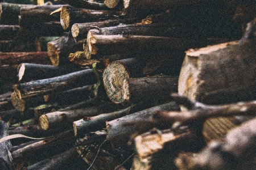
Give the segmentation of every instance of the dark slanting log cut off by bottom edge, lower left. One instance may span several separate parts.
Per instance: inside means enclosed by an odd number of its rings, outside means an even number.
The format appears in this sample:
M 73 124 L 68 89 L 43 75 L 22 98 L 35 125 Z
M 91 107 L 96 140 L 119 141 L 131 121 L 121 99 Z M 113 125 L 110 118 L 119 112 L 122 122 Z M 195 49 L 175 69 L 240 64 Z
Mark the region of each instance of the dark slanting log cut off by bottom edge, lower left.
M 61 154 L 52 156 L 51 158 L 44 159 L 38 163 L 32 164 L 26 170 L 39 170 L 39 169 L 65 169 L 68 164 L 72 164 L 76 159 L 79 159 L 76 147 L 69 148 Z

